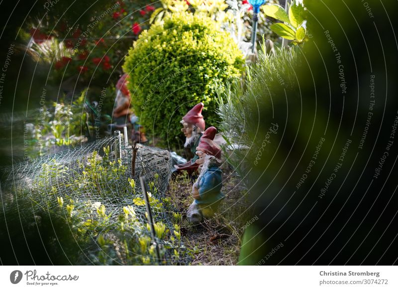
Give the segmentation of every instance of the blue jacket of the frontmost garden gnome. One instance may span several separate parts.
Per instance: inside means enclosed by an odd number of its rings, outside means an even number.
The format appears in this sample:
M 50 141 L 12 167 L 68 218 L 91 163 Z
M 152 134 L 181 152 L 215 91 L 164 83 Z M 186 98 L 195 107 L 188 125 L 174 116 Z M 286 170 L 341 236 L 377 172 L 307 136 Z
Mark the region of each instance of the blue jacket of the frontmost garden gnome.
M 197 204 L 212 204 L 224 198 L 221 193 L 221 169 L 217 166 L 210 166 L 198 181 L 200 198 L 195 200 Z

